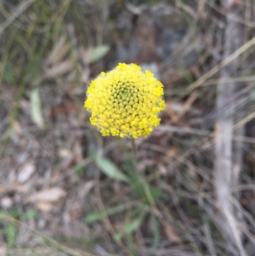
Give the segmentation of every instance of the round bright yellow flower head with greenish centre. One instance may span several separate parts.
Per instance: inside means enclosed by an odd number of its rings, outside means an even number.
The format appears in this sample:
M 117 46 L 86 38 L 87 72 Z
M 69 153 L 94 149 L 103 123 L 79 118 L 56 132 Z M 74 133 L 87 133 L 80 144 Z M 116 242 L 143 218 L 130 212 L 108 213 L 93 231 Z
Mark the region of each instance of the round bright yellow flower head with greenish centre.
M 147 137 L 159 125 L 164 110 L 163 84 L 136 64 L 119 63 L 102 72 L 87 89 L 84 107 L 92 112 L 91 124 L 103 136 Z

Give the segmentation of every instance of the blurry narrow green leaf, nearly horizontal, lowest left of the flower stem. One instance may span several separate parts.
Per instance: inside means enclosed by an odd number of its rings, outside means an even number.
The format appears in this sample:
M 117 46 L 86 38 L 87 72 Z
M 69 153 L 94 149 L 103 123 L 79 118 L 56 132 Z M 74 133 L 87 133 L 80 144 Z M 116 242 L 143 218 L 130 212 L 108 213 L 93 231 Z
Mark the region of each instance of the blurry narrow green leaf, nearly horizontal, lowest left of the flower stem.
M 106 209 L 105 211 L 99 211 L 97 213 L 90 213 L 85 218 L 86 223 L 98 222 L 99 220 L 103 220 L 106 216 L 115 215 L 116 213 L 120 213 L 124 211 L 128 207 L 127 204 L 120 204 L 119 206 L 111 207 Z

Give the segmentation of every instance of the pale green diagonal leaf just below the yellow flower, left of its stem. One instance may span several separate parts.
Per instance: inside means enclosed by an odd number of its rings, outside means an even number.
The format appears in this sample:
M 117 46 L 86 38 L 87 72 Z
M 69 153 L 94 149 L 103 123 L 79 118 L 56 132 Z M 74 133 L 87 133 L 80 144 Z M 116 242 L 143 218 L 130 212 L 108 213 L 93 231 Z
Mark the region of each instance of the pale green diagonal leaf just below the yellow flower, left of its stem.
M 129 183 L 129 178 L 113 162 L 103 156 L 99 156 L 99 154 L 92 154 L 92 158 L 106 176 L 115 179 L 115 181 Z

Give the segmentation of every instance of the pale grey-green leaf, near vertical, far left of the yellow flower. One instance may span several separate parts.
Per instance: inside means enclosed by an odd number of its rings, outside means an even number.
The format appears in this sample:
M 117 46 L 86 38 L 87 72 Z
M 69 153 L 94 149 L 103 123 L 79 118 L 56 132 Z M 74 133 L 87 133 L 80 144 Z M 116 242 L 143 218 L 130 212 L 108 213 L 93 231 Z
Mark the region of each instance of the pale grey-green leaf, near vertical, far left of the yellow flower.
M 31 118 L 39 127 L 44 128 L 43 112 L 41 110 L 41 99 L 39 88 L 36 87 L 30 94 Z

